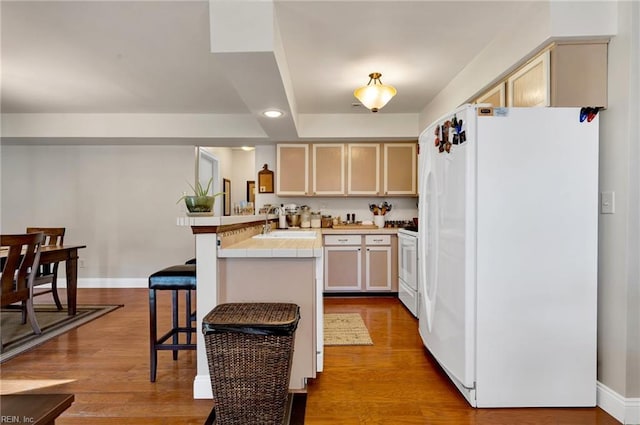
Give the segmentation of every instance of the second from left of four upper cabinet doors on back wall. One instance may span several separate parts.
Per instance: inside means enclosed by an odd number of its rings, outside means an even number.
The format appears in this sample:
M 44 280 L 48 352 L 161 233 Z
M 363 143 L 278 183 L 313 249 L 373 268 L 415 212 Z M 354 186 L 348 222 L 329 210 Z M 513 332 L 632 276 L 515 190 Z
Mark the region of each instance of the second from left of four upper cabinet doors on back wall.
M 344 195 L 344 145 L 312 145 L 313 195 Z

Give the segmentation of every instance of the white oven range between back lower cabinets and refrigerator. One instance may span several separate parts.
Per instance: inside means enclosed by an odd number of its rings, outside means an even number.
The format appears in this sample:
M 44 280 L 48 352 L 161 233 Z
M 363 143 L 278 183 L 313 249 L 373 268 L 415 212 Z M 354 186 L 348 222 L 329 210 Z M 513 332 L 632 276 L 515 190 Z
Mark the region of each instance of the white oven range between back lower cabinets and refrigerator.
M 418 317 L 418 232 L 398 230 L 398 298 Z

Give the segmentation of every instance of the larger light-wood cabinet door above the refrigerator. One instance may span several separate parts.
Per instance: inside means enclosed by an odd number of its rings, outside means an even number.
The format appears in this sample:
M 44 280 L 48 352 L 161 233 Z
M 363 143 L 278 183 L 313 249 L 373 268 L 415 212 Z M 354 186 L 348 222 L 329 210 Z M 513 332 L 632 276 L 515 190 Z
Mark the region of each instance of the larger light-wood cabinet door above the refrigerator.
M 549 106 L 551 84 L 549 81 L 549 51 L 516 71 L 507 80 L 508 106 Z

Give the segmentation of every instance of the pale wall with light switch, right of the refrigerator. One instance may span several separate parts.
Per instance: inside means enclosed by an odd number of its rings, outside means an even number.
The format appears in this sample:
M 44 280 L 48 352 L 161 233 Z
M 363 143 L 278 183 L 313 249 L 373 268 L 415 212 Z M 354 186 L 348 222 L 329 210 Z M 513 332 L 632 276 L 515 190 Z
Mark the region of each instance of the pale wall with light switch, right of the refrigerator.
M 615 192 L 616 212 L 599 221 L 598 379 L 638 398 L 640 4 L 618 6 L 618 35 L 609 43 L 609 108 L 601 113 L 600 191 Z

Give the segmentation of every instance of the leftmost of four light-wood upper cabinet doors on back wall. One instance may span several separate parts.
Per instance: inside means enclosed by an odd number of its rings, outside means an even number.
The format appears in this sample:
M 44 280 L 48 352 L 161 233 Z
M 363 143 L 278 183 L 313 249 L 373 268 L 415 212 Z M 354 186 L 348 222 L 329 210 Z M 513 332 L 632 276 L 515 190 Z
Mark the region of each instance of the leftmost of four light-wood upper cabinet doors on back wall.
M 283 196 L 307 195 L 309 190 L 309 145 L 278 145 L 276 162 L 276 193 Z

